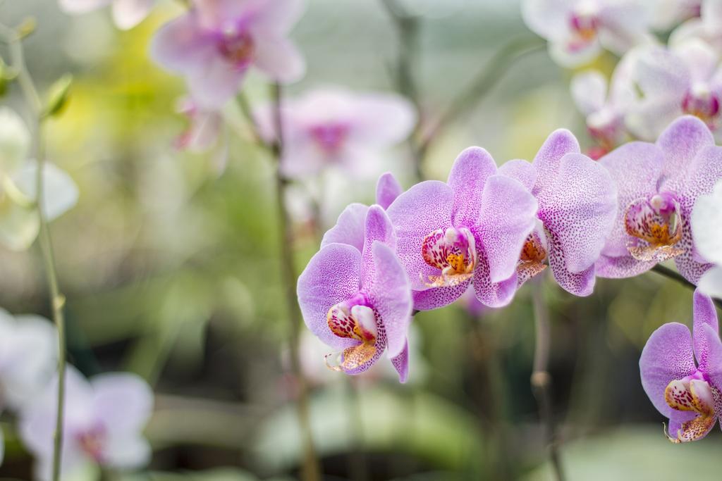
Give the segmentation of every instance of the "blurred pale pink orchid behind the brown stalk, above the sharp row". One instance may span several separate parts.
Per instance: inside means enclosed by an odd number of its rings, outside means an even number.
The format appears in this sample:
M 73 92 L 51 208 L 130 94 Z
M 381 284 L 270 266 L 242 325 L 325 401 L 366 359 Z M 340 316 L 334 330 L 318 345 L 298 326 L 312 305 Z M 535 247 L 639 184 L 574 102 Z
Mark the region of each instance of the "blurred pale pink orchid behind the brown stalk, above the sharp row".
M 274 141 L 274 109 L 256 109 L 261 136 Z M 353 173 L 373 172 L 384 150 L 399 144 L 416 124 L 411 103 L 396 94 L 317 89 L 282 105 L 284 175 L 300 177 L 336 165 Z

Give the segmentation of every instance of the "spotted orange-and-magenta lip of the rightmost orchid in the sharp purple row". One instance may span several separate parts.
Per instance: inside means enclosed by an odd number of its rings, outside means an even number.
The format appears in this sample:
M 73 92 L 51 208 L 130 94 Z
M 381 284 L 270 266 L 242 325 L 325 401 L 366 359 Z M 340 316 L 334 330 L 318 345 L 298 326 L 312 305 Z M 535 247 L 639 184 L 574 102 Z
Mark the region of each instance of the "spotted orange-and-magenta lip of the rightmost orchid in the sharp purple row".
M 662 262 L 682 254 L 682 213 L 674 194 L 661 193 L 640 198 L 627 206 L 625 231 L 630 235 L 627 249 L 636 260 Z

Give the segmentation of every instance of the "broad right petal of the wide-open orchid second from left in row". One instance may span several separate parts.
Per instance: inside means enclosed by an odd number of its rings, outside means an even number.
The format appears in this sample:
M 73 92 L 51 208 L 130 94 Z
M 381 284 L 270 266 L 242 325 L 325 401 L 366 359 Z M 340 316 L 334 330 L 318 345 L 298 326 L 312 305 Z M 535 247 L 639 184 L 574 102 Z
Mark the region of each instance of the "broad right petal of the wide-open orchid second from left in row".
M 516 271 L 521 247 L 534 230 L 536 199 L 518 180 L 492 175 L 484 186 L 481 204 L 479 238 L 490 281 L 505 281 Z

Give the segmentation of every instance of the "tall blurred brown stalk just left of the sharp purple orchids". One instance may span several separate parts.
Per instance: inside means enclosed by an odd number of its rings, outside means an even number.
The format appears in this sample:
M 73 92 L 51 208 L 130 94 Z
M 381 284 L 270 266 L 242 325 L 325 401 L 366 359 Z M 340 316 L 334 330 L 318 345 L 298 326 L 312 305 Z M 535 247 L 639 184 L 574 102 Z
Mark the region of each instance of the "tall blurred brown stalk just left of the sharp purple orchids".
M 281 172 L 281 158 L 283 155 L 283 120 L 281 115 L 282 89 L 279 84 L 273 86 L 274 98 L 274 123 L 276 125 L 276 141 L 271 145 L 271 152 L 276 159 L 276 203 L 278 208 L 280 239 L 280 256 L 282 268 L 282 281 L 285 292 L 284 297 L 287 303 L 288 319 L 290 322 L 290 358 L 291 369 L 298 385 L 297 411 L 300 422 L 301 435 L 303 436 L 303 467 L 302 479 L 304 481 L 320 481 L 321 466 L 316 457 L 316 450 L 313 446 L 313 433 L 310 424 L 310 406 L 308 403 L 308 389 L 306 386 L 303 370 L 301 369 L 300 356 L 298 352 L 299 327 L 301 325 L 300 310 L 296 297 L 296 273 L 293 255 L 293 235 L 291 231 L 290 216 L 286 209 L 285 192 L 289 185 L 288 180 Z

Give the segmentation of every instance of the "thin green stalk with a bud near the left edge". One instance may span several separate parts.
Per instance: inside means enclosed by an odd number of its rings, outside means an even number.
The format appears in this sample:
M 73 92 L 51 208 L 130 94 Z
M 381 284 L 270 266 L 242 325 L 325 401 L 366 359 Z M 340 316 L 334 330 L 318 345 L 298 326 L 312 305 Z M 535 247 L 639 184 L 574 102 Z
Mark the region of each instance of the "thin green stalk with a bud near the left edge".
M 9 43 L 10 55 L 14 69 L 17 69 L 17 81 L 25 95 L 25 100 L 30 106 L 35 120 L 37 122 L 35 131 L 35 142 L 38 162 L 38 172 L 35 177 L 35 196 L 36 206 L 38 208 L 38 220 L 40 221 L 40 252 L 43 258 L 43 268 L 45 269 L 45 277 L 48 282 L 48 291 L 51 296 L 51 309 L 53 312 L 53 322 L 55 322 L 58 330 L 58 401 L 56 412 L 55 433 L 53 434 L 53 481 L 60 479 L 61 472 L 61 453 L 63 450 L 63 415 L 65 410 L 65 319 L 63 307 L 65 305 L 65 296 L 61 294 L 58 286 L 58 273 L 56 270 L 55 255 L 53 253 L 53 242 L 51 239 L 50 227 L 48 219 L 45 217 L 44 206 L 44 188 L 43 185 L 43 169 L 45 167 L 45 144 L 43 142 L 43 121 L 45 115 L 43 112 L 43 103 L 40 100 L 38 89 L 32 81 L 32 76 L 27 71 L 25 65 L 25 56 L 22 51 L 21 39 L 17 32 L 8 27 L 1 27 L 1 35 Z

